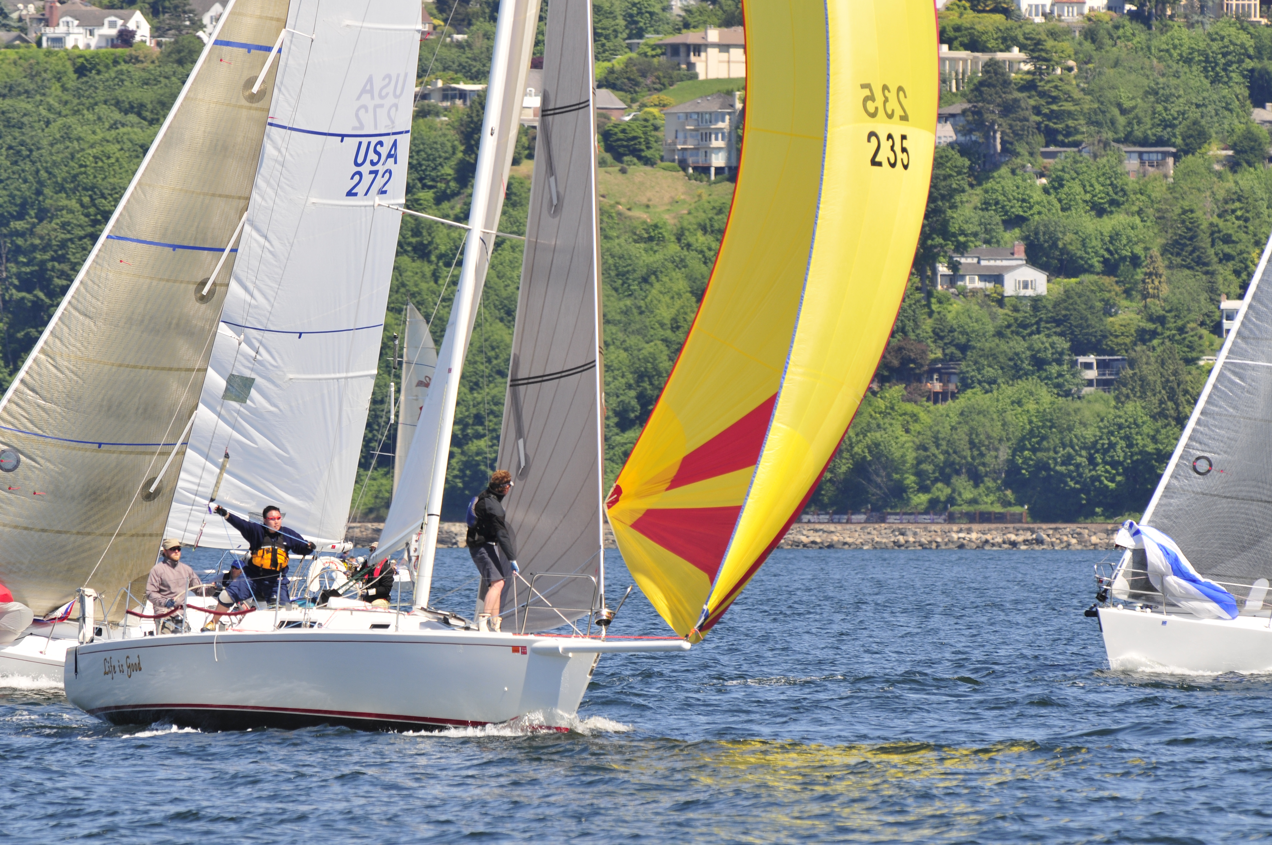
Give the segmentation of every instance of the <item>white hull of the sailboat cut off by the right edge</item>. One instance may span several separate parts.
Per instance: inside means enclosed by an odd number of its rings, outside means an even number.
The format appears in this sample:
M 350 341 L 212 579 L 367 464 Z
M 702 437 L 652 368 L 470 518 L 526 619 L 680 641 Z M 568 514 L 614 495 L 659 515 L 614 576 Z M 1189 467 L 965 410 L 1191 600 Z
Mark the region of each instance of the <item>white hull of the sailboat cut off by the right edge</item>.
M 1159 672 L 1272 672 L 1272 627 L 1267 616 L 1203 620 L 1196 616 L 1118 607 L 1099 610 L 1113 669 Z

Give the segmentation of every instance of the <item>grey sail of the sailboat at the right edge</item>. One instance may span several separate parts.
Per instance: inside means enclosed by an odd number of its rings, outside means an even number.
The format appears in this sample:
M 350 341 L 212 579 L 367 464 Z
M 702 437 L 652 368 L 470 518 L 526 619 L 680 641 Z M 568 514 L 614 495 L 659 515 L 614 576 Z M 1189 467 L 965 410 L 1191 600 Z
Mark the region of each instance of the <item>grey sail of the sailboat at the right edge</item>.
M 1238 599 L 1272 579 L 1272 269 L 1263 251 L 1245 304 L 1192 419 L 1166 464 L 1144 522 L 1175 540 L 1197 570 Z M 1142 559 L 1136 552 L 1135 559 Z M 1132 559 L 1123 578 L 1149 589 Z M 1127 584 L 1119 579 L 1118 588 Z M 1122 592 L 1117 589 L 1114 594 Z

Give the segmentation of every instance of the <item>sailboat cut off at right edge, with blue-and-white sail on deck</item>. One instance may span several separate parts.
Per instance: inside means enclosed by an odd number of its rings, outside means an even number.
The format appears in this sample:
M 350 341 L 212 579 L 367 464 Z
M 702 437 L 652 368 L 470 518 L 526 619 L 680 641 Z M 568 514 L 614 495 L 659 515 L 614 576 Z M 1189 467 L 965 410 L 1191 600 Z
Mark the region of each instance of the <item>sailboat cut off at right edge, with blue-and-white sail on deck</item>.
M 1098 575 L 1098 616 L 1114 669 L 1272 671 L 1272 239 L 1140 526 Z

